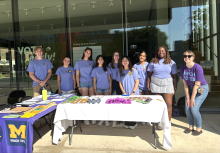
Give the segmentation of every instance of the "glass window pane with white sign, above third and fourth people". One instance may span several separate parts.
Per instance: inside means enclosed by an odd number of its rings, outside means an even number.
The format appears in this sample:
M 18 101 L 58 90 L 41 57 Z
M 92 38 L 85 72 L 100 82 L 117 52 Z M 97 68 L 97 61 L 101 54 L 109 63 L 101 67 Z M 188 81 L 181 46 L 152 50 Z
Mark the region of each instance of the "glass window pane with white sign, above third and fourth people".
M 93 49 L 93 60 L 103 55 L 106 64 L 112 54 L 123 54 L 122 1 L 69 0 L 71 51 L 74 64 L 86 47 Z

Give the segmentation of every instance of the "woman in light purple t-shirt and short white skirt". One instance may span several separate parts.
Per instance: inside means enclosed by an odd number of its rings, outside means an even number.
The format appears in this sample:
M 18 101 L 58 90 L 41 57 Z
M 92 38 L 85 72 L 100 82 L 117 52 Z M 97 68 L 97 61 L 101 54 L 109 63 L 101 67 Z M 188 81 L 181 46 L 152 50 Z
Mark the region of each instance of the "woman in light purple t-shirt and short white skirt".
M 176 63 L 171 60 L 165 46 L 158 47 L 155 58 L 148 66 L 147 88 L 154 95 L 161 95 L 167 104 L 171 126 L 172 99 L 177 89 Z M 162 129 L 158 125 L 158 129 Z

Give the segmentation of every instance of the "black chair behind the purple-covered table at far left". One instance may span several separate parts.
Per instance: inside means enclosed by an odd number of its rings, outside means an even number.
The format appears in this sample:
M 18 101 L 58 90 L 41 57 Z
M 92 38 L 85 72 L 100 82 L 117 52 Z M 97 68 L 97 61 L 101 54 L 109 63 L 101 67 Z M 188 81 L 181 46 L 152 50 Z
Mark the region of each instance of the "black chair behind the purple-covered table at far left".
M 14 90 L 12 91 L 7 99 L 9 105 L 14 105 L 21 102 L 21 99 L 26 97 L 26 92 L 24 90 Z

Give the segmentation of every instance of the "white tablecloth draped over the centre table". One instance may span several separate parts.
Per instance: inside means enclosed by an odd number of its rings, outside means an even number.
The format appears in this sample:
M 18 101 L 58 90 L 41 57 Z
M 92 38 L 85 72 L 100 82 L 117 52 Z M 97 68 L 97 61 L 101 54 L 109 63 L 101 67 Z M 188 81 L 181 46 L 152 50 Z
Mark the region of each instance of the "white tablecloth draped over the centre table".
M 153 99 L 149 104 L 134 101 L 132 104 L 105 104 L 107 99 L 116 97 L 123 96 L 104 96 L 100 104 L 59 104 L 54 118 L 53 143 L 58 143 L 62 132 L 72 126 L 72 120 L 161 122 L 164 129 L 163 146 L 169 150 L 172 148 L 167 105 L 161 96 L 146 96 Z

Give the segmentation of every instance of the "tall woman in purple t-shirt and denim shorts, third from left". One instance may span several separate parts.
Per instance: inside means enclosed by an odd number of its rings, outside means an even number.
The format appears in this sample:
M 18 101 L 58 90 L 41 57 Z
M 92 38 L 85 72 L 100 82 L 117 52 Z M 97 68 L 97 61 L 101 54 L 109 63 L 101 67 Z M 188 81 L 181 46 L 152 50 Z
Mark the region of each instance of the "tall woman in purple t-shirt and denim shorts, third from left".
M 77 87 L 82 96 L 94 95 L 93 79 L 91 77 L 94 66 L 92 49 L 87 47 L 83 52 L 82 59 L 77 61 L 74 67 L 76 70 Z M 84 123 L 85 125 L 89 125 L 88 120 L 84 120 Z M 95 124 L 95 121 L 92 123 Z

